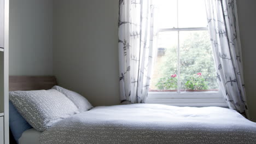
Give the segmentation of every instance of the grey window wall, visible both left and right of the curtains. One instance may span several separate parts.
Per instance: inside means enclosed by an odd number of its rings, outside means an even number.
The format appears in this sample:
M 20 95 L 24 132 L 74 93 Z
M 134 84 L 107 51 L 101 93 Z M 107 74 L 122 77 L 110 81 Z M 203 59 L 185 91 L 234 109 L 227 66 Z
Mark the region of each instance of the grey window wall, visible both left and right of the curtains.
M 249 112 L 256 121 L 256 1 L 237 1 Z M 94 105 L 118 104 L 118 0 L 54 0 L 54 74 Z

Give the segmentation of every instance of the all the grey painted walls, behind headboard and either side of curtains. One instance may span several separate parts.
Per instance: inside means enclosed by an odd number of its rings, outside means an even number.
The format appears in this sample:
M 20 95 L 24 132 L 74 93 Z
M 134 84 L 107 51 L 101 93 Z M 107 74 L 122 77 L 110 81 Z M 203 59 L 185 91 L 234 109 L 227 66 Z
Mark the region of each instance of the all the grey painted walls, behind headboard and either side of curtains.
M 247 101 L 256 122 L 255 5 L 237 1 Z M 119 104 L 117 21 L 118 0 L 10 0 L 10 75 L 54 74 L 93 105 Z

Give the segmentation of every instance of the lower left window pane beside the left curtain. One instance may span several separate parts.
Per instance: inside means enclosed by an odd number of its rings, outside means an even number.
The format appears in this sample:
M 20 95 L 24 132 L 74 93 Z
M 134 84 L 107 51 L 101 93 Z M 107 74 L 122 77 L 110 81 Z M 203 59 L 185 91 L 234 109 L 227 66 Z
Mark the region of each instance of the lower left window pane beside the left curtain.
M 150 91 L 176 91 L 178 84 L 178 32 L 160 32 L 157 39 Z

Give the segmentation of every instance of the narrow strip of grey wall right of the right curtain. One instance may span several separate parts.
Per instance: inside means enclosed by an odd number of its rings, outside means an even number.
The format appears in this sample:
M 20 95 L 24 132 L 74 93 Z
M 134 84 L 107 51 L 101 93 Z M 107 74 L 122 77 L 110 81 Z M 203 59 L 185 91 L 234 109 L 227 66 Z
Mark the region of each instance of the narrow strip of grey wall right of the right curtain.
M 256 122 L 256 1 L 237 0 L 249 116 Z

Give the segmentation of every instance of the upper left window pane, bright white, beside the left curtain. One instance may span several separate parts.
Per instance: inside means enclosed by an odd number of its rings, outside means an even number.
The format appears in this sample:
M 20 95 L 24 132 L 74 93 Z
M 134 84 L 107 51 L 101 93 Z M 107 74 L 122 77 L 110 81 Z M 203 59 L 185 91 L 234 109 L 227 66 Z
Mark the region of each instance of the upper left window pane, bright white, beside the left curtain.
M 177 0 L 155 0 L 154 27 L 177 28 Z

